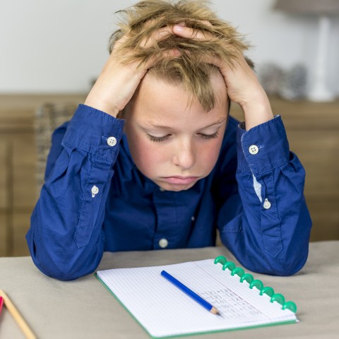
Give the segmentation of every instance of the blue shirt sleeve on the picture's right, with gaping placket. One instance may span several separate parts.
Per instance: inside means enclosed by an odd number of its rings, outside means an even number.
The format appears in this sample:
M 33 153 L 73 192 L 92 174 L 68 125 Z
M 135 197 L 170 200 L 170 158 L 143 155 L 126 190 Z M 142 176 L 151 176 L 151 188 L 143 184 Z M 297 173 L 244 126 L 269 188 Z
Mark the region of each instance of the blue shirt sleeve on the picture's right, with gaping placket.
M 223 244 L 249 270 L 296 273 L 307 260 L 311 218 L 305 171 L 290 152 L 281 117 L 249 131 L 239 126 L 236 179 L 218 215 Z

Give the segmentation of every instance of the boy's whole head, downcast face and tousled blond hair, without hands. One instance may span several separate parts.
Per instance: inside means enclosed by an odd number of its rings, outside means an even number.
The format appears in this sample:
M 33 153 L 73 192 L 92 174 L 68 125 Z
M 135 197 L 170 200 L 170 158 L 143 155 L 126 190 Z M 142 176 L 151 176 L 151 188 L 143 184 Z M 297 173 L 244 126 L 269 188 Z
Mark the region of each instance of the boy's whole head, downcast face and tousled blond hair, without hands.
M 124 36 L 118 49 L 123 63 L 143 65 L 151 59 L 153 64 L 118 116 L 126 119 L 131 155 L 145 177 L 162 189 L 190 189 L 215 166 L 228 116 L 224 78 L 204 60 L 219 57 L 232 66 L 246 45 L 203 1 L 141 1 L 124 13 L 120 30 L 111 37 L 110 52 Z M 161 41 L 153 39 L 160 28 L 175 24 L 206 32 L 213 39 L 183 38 L 170 30 Z M 147 40 L 154 43 L 145 47 Z M 176 57 L 170 53 L 173 50 Z

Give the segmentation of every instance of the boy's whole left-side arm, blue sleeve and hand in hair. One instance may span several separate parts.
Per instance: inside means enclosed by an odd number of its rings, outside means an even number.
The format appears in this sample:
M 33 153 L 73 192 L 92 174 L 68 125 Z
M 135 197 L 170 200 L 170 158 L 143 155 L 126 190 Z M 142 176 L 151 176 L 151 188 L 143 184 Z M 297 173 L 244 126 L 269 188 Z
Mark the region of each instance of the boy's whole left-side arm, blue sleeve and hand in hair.
M 141 44 L 151 47 L 171 29 L 160 28 Z M 102 257 L 105 203 L 124 127 L 115 117 L 153 62 L 121 63 L 126 38 L 115 43 L 85 105 L 71 119 L 62 148 L 54 143 L 47 164 L 51 172 L 32 213 L 27 240 L 33 261 L 42 272 L 61 280 L 93 272 Z

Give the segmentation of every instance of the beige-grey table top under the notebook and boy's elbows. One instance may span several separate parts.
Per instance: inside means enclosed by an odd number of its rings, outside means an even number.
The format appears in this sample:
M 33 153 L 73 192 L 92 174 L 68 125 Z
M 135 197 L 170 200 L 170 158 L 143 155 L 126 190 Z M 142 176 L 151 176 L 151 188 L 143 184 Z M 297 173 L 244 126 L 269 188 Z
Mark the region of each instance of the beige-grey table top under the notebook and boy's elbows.
M 339 241 L 313 242 L 304 268 L 292 277 L 254 273 L 298 307 L 299 323 L 190 338 L 338 338 Z M 237 261 L 223 247 L 160 251 L 106 252 L 98 269 L 155 266 L 214 258 Z M 62 282 L 49 278 L 30 257 L 0 258 L 0 289 L 19 309 L 38 338 L 147 339 L 149 335 L 94 275 Z M 0 338 L 23 338 L 6 309 L 0 315 Z

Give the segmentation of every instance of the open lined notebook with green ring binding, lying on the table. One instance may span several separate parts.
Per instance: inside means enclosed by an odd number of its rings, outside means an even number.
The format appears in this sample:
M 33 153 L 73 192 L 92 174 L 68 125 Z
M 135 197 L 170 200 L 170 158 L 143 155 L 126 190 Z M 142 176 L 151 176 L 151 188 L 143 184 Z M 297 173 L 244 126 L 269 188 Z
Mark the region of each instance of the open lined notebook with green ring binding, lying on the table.
M 160 275 L 166 270 L 218 309 L 206 311 Z M 96 277 L 153 338 L 297 322 L 294 302 L 224 256 L 167 266 L 99 270 Z

